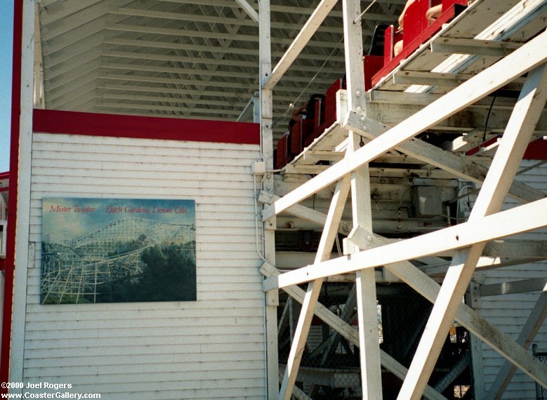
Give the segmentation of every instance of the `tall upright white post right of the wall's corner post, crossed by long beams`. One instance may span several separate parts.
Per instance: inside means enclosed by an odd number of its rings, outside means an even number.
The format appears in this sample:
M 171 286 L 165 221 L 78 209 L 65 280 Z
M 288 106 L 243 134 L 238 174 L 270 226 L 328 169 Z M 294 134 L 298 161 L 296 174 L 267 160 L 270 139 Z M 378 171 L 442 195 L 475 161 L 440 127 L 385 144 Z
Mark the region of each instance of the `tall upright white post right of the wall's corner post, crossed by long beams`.
M 348 87 L 348 109 L 364 111 L 363 40 L 361 1 L 343 0 L 345 76 Z M 360 149 L 362 138 L 349 131 L 348 156 Z M 353 228 L 372 232 L 372 209 L 369 165 L 364 164 L 351 174 Z M 378 338 L 378 307 L 374 269 L 362 269 L 355 275 L 357 293 L 357 324 L 363 399 L 382 399 L 382 375 Z

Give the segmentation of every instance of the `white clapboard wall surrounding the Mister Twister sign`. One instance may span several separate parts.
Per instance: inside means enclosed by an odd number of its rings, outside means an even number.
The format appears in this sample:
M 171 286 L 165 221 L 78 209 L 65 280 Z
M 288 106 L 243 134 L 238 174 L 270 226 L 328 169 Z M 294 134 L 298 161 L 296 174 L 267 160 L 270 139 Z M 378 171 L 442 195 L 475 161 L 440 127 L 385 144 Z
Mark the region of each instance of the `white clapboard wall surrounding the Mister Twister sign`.
M 258 145 L 35 133 L 25 380 L 102 399 L 263 399 L 259 158 Z M 42 199 L 71 196 L 195 200 L 197 301 L 40 305 Z

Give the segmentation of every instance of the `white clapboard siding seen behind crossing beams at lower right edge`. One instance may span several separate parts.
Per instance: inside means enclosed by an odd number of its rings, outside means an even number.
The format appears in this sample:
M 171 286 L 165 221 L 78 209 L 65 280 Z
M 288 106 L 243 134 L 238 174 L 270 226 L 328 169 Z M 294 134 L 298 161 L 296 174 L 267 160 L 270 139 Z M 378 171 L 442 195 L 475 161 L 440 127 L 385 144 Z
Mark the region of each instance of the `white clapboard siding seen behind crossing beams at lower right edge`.
M 521 167 L 526 168 L 536 164 L 536 160 L 522 161 Z M 518 175 L 518 180 L 531 187 L 547 193 L 547 164 Z M 511 208 L 518 205 L 513 199 L 506 199 L 503 208 Z M 533 218 L 533 216 L 532 216 Z M 517 236 L 515 236 L 515 239 Z M 518 235 L 518 239 L 547 240 L 547 230 Z M 485 276 L 484 284 L 499 284 L 506 281 L 518 281 L 520 279 L 545 278 L 547 276 L 547 263 L 534 262 L 532 264 L 518 265 L 492 269 L 481 272 Z M 496 295 L 480 299 L 478 311 L 482 316 L 492 322 L 496 327 L 507 333 L 511 338 L 518 338 L 522 326 L 525 324 L 529 312 L 535 305 L 539 292 L 522 293 L 513 295 Z M 537 343 L 539 351 L 547 351 L 547 322 L 543 322 L 541 329 L 533 341 Z M 482 366 L 485 381 L 485 390 L 489 390 L 496 378 L 504 359 L 492 348 L 485 344 L 482 347 Z M 529 349 L 532 353 L 532 348 Z M 508 385 L 503 399 L 535 399 L 535 385 L 531 378 L 520 370 L 515 374 Z

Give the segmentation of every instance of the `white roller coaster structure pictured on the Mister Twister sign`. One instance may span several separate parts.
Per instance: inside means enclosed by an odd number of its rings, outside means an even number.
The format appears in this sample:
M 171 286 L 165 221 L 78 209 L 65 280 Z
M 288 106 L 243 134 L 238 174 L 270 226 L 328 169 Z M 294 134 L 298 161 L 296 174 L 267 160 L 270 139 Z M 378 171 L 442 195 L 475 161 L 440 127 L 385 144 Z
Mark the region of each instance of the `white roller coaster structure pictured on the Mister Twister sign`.
M 42 253 L 41 302 L 95 302 L 98 288 L 143 272 L 140 255 L 157 244 L 195 257 L 195 225 L 142 218 L 112 222 L 73 240 L 51 237 Z

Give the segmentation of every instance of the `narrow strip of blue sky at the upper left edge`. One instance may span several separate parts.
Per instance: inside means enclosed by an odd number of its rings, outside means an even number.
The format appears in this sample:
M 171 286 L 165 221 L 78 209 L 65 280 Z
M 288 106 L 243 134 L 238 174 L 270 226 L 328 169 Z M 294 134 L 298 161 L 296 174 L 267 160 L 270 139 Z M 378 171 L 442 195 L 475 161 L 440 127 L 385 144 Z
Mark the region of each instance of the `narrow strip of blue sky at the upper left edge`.
M 0 0 L 0 172 L 9 170 L 13 0 Z

